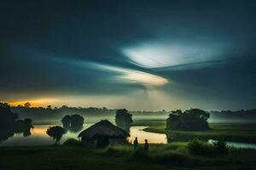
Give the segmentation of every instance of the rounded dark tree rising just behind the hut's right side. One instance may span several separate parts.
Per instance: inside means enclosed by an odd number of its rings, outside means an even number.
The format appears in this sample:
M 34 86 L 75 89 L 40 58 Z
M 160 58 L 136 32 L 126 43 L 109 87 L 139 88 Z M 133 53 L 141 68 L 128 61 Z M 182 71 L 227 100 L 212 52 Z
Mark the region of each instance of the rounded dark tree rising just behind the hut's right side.
M 115 123 L 117 126 L 124 128 L 126 131 L 131 127 L 132 115 L 125 109 L 116 111 Z

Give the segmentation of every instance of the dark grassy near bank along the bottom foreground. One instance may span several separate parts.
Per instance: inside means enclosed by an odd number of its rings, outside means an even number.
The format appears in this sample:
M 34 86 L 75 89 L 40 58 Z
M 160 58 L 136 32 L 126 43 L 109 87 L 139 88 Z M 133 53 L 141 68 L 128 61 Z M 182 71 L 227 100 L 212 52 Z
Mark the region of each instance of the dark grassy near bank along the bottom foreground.
M 254 169 L 256 150 L 230 149 L 225 156 L 193 156 L 187 144 L 150 144 L 148 154 L 134 151 L 129 144 L 108 149 L 67 146 L 0 147 L 3 170 L 84 169 Z

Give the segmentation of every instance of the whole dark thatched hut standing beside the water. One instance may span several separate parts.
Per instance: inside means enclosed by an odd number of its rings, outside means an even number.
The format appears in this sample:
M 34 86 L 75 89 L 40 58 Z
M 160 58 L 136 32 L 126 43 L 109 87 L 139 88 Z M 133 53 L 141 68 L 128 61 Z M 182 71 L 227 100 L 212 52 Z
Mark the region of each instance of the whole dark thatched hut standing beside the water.
M 96 145 L 97 147 L 105 147 L 108 144 L 124 143 L 128 136 L 130 136 L 129 133 L 114 126 L 107 120 L 97 122 L 93 126 L 79 133 L 79 138 L 82 138 L 82 144 Z

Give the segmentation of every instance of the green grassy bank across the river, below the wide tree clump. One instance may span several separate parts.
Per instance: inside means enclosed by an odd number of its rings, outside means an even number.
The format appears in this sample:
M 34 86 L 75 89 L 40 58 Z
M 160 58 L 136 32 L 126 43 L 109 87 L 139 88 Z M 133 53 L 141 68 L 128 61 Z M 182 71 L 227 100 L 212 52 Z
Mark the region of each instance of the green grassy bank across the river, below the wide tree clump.
M 224 141 L 256 143 L 255 123 L 210 123 L 210 130 L 206 131 L 181 131 L 167 130 L 164 123 L 148 123 L 143 129 L 151 133 L 166 133 L 168 142 L 186 141 L 189 139 L 222 139 Z

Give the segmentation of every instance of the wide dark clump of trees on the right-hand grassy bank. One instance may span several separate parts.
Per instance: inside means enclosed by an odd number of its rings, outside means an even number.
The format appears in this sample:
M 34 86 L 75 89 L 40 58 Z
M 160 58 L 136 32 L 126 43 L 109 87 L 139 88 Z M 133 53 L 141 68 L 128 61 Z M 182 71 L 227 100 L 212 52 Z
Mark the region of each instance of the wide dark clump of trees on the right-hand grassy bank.
M 200 109 L 190 109 L 184 112 L 172 111 L 166 120 L 166 128 L 172 130 L 207 130 L 209 129 L 208 118 L 209 114 Z

